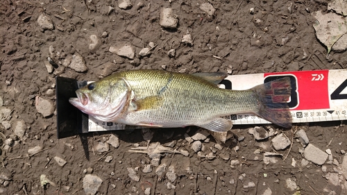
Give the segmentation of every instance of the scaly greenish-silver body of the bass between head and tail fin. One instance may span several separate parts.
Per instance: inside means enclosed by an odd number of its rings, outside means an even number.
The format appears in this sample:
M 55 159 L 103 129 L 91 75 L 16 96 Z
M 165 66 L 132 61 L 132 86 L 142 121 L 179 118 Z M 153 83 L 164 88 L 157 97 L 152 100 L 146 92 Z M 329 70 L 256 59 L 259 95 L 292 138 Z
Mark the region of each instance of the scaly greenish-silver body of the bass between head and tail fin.
M 133 71 L 122 75 L 138 99 L 159 94 L 164 99 L 160 108 L 129 112 L 124 120 L 136 124 L 150 119 L 146 123 L 187 126 L 240 111 L 251 112 L 257 107 L 256 97 L 251 91 L 223 90 L 189 74 L 161 73 Z

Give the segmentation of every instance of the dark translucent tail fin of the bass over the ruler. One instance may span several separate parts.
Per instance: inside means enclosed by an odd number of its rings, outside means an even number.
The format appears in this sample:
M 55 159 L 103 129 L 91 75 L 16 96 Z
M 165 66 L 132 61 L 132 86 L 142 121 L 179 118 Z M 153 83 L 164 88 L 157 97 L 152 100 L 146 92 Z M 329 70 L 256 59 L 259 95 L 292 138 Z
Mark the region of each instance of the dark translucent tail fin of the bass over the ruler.
M 287 101 L 291 94 L 290 78 L 280 78 L 252 88 L 258 96 L 257 115 L 285 128 L 291 127 L 291 113 Z

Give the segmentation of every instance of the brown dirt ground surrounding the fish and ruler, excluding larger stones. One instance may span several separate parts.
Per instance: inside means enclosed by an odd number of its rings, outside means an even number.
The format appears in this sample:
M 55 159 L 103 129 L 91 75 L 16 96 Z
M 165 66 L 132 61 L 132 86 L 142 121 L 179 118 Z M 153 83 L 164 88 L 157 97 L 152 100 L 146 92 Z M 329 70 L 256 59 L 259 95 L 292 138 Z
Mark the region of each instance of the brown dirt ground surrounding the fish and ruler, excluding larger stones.
M 151 142 L 165 145 L 174 141 L 175 149 L 189 151 L 188 156 L 162 154 L 160 162 L 175 169 L 177 178 L 171 182 L 175 189 L 169 189 L 166 171 L 162 176 L 155 173 L 156 167 L 150 173 L 142 172 L 145 164 L 151 164 L 147 154 L 128 152 L 134 144 L 147 145 L 140 130 L 130 134 L 122 130 L 114 132 L 120 139 L 119 147 L 110 147 L 103 153 L 94 151 L 93 146 L 105 142 L 110 132 L 57 139 L 56 112 L 43 117 L 35 108 L 35 96 L 56 104 L 56 76 L 97 80 L 128 69 L 186 73 L 232 69 L 232 74 L 255 74 L 347 67 L 346 53 L 332 51 L 328 60 L 325 58 L 326 48 L 314 33 L 312 12 L 327 12 L 328 1 L 131 0 L 131 3 L 132 8 L 123 10 L 114 0 L 1 1 L 0 97 L 3 106 L 0 108 L 9 108 L 11 112 L 8 118 L 1 119 L 8 121 L 10 127 L 4 126 L 8 123 L 0 125 L 0 133 L 4 135 L 0 142 L 0 193 L 85 194 L 83 178 L 88 168 L 92 171 L 88 169 L 87 173 L 103 180 L 97 194 L 144 194 L 147 187 L 151 187 L 151 194 L 346 193 L 344 178 L 339 172 L 344 157 L 341 150 L 347 150 L 346 126 L 340 126 L 341 121 L 293 126 L 293 130 L 307 126 L 305 131 L 310 143 L 322 151 L 332 151 L 337 163 L 325 163 L 324 171 L 311 162 L 301 166 L 302 146 L 292 139 L 290 129 L 271 126 L 294 142 L 290 150 L 278 152 L 284 156 L 289 153 L 285 160 L 278 158 L 278 162 L 268 165 L 262 161 L 262 152 L 273 151 L 271 138 L 256 141 L 248 134 L 248 128 L 254 126 L 233 127 L 237 137 L 244 137 L 239 139 L 238 149 L 228 145 L 216 149 L 214 139 L 209 137 L 209 142 L 203 142 L 203 153 L 214 152 L 212 160 L 197 155 L 185 139 L 188 129 L 187 134 L 192 136 L 197 128 L 155 129 Z M 203 12 L 199 8 L 201 3 L 210 3 L 216 9 L 214 14 Z M 160 26 L 162 8 L 172 8 L 178 18 L 177 28 Z M 251 8 L 254 8 L 253 14 Z M 52 30 L 38 25 L 37 19 L 42 13 L 51 18 Z M 187 32 L 192 35 L 192 44 L 181 43 Z M 90 35 L 99 39 L 93 49 L 90 49 Z M 150 56 L 140 57 L 139 51 L 148 47 L 149 42 L 155 43 L 155 49 Z M 121 44 L 133 46 L 133 60 L 110 53 L 110 46 Z M 170 49 L 176 49 L 176 56 L 168 56 Z M 62 65 L 73 55 L 84 58 L 87 71 L 77 72 Z M 56 62 L 51 73 L 45 66 L 48 57 Z M 24 121 L 25 133 L 15 135 L 20 121 Z M 174 135 L 167 139 L 171 131 Z M 6 146 L 8 138 L 14 142 Z M 255 153 L 262 144 L 267 145 L 267 149 Z M 29 149 L 35 146 L 40 150 L 29 155 Z M 53 159 L 56 156 L 67 163 L 61 167 Z M 113 159 L 105 162 L 106 156 Z M 223 160 L 221 156 L 229 158 Z M 297 162 L 295 167 L 291 165 L 293 159 Z M 241 163 L 230 167 L 230 160 Z M 138 182 L 128 176 L 129 167 L 138 169 Z M 337 173 L 338 182 L 332 183 L 326 176 L 328 173 Z M 42 187 L 42 174 L 56 186 L 49 183 Z M 290 189 L 286 180 L 294 181 L 296 187 Z

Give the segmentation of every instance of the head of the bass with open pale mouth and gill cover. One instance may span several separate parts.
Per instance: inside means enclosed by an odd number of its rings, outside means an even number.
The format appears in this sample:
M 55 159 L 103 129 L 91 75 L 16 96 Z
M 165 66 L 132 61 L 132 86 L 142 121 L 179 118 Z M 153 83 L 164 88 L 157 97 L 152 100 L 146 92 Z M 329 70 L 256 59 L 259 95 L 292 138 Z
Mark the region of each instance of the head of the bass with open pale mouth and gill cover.
M 115 121 L 127 107 L 131 90 L 124 78 L 103 78 L 76 90 L 69 102 L 101 121 Z

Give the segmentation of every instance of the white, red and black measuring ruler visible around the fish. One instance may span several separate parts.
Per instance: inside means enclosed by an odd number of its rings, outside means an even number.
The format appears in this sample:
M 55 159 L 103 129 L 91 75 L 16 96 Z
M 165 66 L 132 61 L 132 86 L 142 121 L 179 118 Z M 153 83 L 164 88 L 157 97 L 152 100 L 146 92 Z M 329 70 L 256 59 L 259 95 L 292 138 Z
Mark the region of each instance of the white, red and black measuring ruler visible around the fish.
M 293 118 L 293 123 L 347 119 L 347 69 L 232 75 L 222 80 L 219 87 L 228 90 L 248 90 L 255 85 L 260 85 L 283 77 L 289 77 L 291 80 L 291 96 L 287 103 Z M 74 126 L 75 128 L 79 128 L 80 133 L 103 130 L 123 130 L 125 128 L 124 124 L 98 121 L 94 119 L 94 117 L 85 115 L 79 110 L 76 111 L 77 108 L 74 108 L 74 106 L 68 105 L 69 97 L 76 97 L 74 91 L 79 87 L 87 85 L 86 81 L 58 77 L 56 84 L 57 113 L 71 112 L 72 114 L 77 112 L 76 115 L 78 115 L 75 121 L 77 124 L 71 124 L 71 115 L 69 115 L 69 118 L 66 113 L 62 114 L 63 117 L 58 115 L 58 135 L 60 125 L 62 125 L 62 128 L 67 128 L 68 126 L 72 128 Z M 59 94 L 61 94 L 60 92 L 67 90 L 69 92 L 65 92 L 65 96 L 60 95 L 59 97 Z M 62 106 L 64 108 L 61 108 Z M 66 111 L 67 109 L 71 110 Z M 235 125 L 270 124 L 269 121 L 261 119 L 253 113 L 229 115 L 226 116 L 226 118 L 232 120 L 232 123 Z M 66 120 L 69 120 L 69 122 Z M 64 132 L 62 130 L 60 131 Z M 65 137 L 65 135 L 63 136 Z M 60 137 L 58 136 L 58 138 Z

